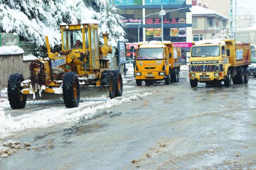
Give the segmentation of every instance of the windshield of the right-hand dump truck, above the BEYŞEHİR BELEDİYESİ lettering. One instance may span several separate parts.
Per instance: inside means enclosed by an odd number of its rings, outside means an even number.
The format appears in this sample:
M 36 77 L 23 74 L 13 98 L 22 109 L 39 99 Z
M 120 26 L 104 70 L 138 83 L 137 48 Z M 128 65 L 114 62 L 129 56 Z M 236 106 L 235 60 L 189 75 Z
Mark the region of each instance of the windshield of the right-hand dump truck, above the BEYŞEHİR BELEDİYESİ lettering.
M 216 57 L 220 55 L 219 46 L 192 47 L 192 57 Z

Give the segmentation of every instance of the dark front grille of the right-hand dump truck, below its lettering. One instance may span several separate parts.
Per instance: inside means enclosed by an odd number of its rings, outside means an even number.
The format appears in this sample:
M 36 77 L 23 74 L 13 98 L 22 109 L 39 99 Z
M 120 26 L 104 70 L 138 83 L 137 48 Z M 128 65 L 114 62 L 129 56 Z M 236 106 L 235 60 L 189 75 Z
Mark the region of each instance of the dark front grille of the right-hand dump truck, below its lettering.
M 223 64 L 217 65 L 190 65 L 189 72 L 220 72 L 223 70 Z

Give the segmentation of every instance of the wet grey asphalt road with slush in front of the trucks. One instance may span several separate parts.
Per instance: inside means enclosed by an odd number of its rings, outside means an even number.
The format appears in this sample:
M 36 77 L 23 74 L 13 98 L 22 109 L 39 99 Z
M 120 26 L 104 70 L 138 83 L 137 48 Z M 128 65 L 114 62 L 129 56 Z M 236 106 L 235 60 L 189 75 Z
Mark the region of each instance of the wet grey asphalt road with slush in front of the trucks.
M 0 169 L 256 169 L 254 77 L 249 84 L 230 88 L 205 84 L 190 88 L 183 71 L 180 82 L 169 86 L 130 87 L 135 86 L 132 77 L 125 86 L 124 96 L 135 91 L 156 93 L 78 123 L 13 133 L 14 140 L 28 141 L 37 151 L 22 150 L 2 159 Z M 26 111 L 45 107 L 50 105 Z

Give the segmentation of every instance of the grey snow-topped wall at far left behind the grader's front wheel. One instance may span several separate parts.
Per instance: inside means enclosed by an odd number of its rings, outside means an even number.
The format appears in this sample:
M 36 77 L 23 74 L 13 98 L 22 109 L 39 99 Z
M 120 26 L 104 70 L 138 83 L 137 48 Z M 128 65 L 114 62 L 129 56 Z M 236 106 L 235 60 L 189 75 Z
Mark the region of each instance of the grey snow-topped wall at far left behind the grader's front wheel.
M 9 75 L 20 73 L 24 79 L 30 77 L 29 66 L 31 61 L 23 62 L 23 55 L 0 55 L 0 90 L 7 88 Z

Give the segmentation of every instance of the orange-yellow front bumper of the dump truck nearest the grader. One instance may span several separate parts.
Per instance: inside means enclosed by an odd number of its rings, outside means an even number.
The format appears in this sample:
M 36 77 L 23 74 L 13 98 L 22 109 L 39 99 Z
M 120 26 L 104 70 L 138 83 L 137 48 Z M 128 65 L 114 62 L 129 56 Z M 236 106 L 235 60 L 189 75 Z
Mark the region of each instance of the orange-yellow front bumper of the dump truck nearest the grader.
M 137 75 L 141 73 L 141 75 Z M 164 75 L 159 75 L 164 73 Z M 163 80 L 165 78 L 165 71 L 136 71 L 135 79 L 136 80 Z

